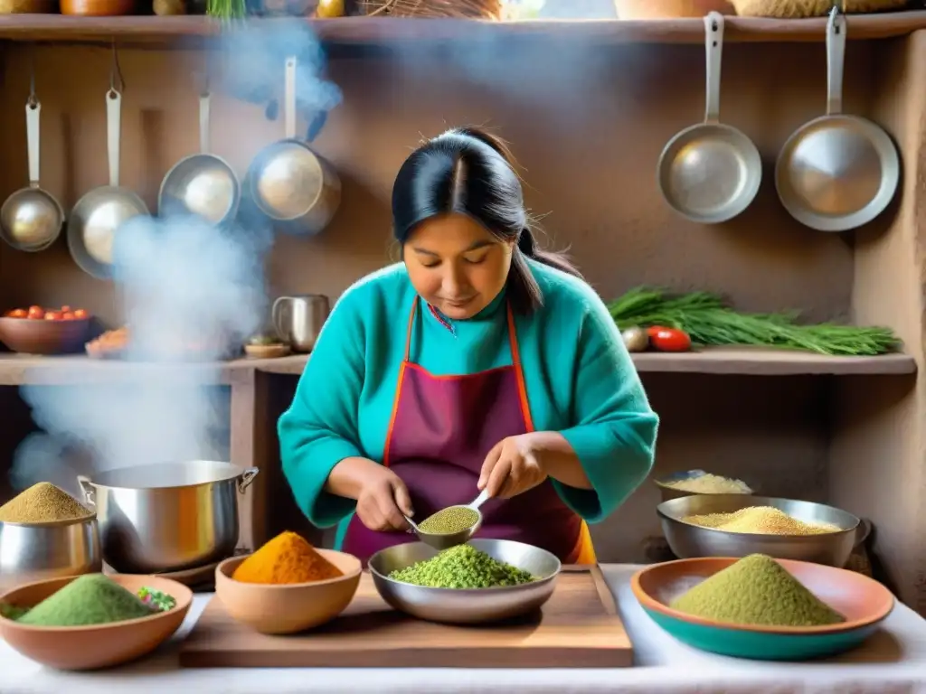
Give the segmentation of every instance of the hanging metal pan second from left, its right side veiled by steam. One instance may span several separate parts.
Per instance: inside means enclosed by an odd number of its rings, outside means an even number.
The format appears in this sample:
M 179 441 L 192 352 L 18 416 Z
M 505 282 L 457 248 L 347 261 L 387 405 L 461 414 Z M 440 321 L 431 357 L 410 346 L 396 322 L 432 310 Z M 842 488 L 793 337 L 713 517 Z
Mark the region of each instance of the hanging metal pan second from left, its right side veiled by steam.
M 147 217 L 150 214 L 142 198 L 119 186 L 122 94 L 116 88 L 117 73 L 114 54 L 113 74 L 109 91 L 106 92 L 109 185 L 84 193 L 68 219 L 70 254 L 81 270 L 96 279 L 112 279 L 113 242 L 119 227 L 132 217 Z

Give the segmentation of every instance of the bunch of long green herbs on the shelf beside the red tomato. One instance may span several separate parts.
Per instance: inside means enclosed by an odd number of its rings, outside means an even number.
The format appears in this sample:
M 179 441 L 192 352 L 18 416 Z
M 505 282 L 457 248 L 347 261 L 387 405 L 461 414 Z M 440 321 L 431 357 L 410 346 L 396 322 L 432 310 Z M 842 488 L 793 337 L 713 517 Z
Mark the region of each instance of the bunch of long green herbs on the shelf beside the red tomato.
M 873 356 L 900 347 L 890 328 L 799 325 L 795 312 L 739 313 L 706 291 L 671 295 L 640 287 L 610 302 L 607 309 L 620 329 L 678 328 L 697 345 L 755 345 L 834 356 Z

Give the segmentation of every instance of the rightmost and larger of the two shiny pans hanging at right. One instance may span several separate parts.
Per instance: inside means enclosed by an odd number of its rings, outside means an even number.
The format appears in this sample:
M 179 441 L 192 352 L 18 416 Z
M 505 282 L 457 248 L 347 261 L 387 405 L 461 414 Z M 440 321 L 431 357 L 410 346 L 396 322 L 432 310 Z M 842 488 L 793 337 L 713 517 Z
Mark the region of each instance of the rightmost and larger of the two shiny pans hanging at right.
M 856 229 L 890 204 L 900 180 L 894 142 L 866 118 L 843 109 L 845 15 L 833 7 L 826 29 L 826 115 L 799 128 L 775 165 L 784 208 L 820 231 Z

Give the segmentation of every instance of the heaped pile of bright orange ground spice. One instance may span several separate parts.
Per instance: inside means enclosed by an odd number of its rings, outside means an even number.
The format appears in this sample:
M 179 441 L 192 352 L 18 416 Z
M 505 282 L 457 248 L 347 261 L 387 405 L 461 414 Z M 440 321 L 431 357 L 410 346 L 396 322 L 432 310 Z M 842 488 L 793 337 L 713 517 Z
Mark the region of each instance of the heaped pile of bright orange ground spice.
M 344 576 L 341 569 L 325 559 L 305 539 L 294 532 L 282 532 L 251 554 L 232 578 L 243 583 L 311 583 Z

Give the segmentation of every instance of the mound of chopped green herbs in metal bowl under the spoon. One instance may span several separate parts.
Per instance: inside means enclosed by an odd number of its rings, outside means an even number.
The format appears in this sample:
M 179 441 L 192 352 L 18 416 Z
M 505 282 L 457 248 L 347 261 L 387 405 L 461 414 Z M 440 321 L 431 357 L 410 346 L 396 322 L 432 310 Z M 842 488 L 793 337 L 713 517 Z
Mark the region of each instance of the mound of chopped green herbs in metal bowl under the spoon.
M 396 581 L 426 588 L 496 588 L 530 583 L 527 571 L 493 559 L 472 545 L 457 545 L 436 557 L 389 575 Z

